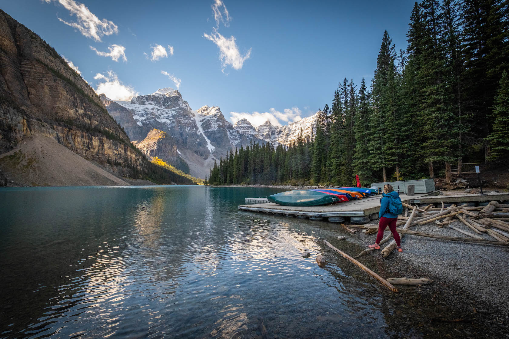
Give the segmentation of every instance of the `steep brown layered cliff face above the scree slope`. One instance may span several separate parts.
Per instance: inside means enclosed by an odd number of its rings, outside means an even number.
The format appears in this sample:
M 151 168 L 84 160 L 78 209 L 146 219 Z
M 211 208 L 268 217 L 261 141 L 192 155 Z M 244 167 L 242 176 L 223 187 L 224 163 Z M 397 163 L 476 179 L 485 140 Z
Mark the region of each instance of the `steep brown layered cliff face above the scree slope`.
M 95 91 L 53 48 L 2 10 L 0 65 L 1 153 L 38 133 L 119 175 L 143 170 L 146 160 Z

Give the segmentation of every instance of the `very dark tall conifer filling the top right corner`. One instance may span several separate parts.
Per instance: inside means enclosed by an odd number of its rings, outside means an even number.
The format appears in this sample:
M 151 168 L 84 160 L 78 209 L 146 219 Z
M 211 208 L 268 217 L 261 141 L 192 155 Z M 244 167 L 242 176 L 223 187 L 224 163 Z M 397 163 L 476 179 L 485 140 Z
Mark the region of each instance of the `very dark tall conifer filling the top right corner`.
M 489 133 L 497 85 L 509 68 L 507 1 L 463 1 L 461 9 L 463 108 L 472 126 L 469 139 L 478 142 Z M 488 152 L 486 142 L 485 158 Z

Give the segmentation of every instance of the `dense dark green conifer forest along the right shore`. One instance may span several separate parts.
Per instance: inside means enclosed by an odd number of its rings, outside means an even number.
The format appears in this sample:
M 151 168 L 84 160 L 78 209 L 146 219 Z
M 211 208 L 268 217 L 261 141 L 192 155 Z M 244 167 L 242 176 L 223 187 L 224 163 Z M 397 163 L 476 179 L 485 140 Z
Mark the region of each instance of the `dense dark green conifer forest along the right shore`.
M 509 1 L 415 3 L 407 50 L 384 32 L 371 85 L 343 79 L 313 136 L 231 150 L 206 183 L 451 180 L 509 158 Z

